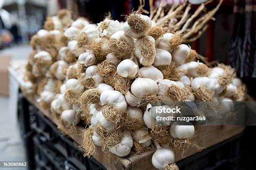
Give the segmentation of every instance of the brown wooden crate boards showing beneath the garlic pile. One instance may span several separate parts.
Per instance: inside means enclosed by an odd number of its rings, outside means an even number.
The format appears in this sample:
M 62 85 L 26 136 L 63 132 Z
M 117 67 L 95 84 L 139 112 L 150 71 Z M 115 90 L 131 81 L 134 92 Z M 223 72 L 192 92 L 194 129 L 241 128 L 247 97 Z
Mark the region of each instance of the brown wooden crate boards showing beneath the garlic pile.
M 38 110 L 40 110 L 46 117 L 54 122 L 55 125 L 59 125 L 58 120 L 51 114 L 49 110 L 44 110 L 40 107 L 33 97 L 26 97 L 31 104 L 33 104 Z M 202 126 L 197 131 L 195 137 L 196 143 L 203 148 L 209 148 L 224 140 L 227 140 L 235 135 L 243 132 L 244 126 Z M 83 145 L 83 130 L 81 126 L 76 126 L 77 134 L 69 134 L 78 146 Z M 63 129 L 64 130 L 64 129 Z M 110 152 L 103 152 L 101 147 L 95 146 L 95 153 L 92 156 L 105 166 L 108 170 L 156 170 L 151 163 L 151 157 L 155 152 L 155 148 L 148 149 L 144 153 L 137 155 L 133 151 L 126 157 L 118 157 Z M 187 156 L 194 155 L 200 152 L 195 147 L 190 147 L 183 154 L 175 152 L 175 162 L 184 159 Z

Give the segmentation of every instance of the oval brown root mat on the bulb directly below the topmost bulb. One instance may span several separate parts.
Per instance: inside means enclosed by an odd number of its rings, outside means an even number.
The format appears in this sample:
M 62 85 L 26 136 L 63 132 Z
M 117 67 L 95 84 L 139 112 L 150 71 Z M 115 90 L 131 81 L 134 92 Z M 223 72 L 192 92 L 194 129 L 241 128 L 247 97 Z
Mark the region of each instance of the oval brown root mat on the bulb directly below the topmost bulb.
M 152 44 L 152 42 L 148 40 L 148 38 L 145 36 L 138 39 L 141 40 L 141 55 L 143 56 L 143 59 L 147 61 L 154 60 L 154 57 L 156 55 L 156 49 L 154 44 Z

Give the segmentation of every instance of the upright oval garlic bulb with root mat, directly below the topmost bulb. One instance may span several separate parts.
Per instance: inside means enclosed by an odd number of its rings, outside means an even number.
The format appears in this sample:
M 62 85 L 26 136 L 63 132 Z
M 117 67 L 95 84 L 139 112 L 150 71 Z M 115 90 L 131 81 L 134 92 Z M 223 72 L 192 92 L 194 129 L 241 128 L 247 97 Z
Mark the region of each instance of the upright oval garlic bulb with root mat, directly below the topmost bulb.
M 156 55 L 155 39 L 149 35 L 138 38 L 134 44 L 134 55 L 142 65 L 152 65 Z

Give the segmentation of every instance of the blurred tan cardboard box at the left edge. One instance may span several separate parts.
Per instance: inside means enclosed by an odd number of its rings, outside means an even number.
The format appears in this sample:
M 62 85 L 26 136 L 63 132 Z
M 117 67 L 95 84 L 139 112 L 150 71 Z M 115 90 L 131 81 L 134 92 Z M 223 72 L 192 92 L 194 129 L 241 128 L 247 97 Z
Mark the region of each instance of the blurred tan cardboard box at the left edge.
M 9 74 L 8 66 L 11 55 L 0 54 L 0 95 L 9 95 Z

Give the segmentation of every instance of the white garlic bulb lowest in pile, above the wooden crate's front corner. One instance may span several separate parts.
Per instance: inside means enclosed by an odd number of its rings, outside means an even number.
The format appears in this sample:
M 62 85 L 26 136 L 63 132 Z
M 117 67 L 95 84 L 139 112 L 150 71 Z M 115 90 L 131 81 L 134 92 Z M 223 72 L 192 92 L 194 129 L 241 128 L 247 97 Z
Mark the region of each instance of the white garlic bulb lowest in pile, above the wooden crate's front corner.
M 120 157 L 127 156 L 131 152 L 131 148 L 133 147 L 133 138 L 131 137 L 131 132 L 124 131 L 123 138 L 118 145 L 109 146 L 109 150 L 111 153 L 118 155 Z

